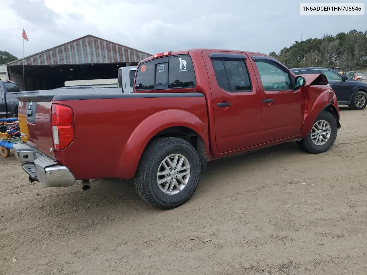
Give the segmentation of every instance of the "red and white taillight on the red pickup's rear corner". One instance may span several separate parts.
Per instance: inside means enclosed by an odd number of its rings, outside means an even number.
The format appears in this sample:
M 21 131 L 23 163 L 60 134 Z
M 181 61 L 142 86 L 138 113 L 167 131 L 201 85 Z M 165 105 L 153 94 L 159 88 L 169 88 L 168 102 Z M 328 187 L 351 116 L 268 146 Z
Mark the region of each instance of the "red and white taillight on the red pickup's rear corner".
M 52 104 L 51 125 L 55 150 L 62 150 L 74 139 L 73 110 L 65 105 Z

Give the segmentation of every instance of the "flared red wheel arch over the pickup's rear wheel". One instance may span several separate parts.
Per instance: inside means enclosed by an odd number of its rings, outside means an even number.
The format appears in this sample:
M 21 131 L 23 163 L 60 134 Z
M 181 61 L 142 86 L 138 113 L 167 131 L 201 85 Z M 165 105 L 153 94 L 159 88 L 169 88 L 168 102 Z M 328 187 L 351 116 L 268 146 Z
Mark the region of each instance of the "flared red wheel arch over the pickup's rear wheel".
M 207 121 L 202 121 L 196 115 L 183 110 L 159 111 L 143 120 L 132 132 L 117 165 L 117 169 L 120 170 L 116 173 L 126 179 L 134 177 L 141 155 L 149 141 L 160 131 L 174 126 L 183 126 L 195 131 L 203 139 L 208 154 Z

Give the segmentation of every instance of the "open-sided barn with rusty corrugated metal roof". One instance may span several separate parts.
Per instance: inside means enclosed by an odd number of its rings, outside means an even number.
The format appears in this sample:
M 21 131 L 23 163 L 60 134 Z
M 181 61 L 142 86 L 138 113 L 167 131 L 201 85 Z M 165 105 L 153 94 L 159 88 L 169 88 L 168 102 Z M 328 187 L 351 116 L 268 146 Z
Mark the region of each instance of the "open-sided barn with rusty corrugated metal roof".
M 119 67 L 151 56 L 111 41 L 86 35 L 24 58 L 25 91 L 64 87 L 68 80 L 116 78 Z M 23 91 L 23 58 L 7 64 L 10 78 Z

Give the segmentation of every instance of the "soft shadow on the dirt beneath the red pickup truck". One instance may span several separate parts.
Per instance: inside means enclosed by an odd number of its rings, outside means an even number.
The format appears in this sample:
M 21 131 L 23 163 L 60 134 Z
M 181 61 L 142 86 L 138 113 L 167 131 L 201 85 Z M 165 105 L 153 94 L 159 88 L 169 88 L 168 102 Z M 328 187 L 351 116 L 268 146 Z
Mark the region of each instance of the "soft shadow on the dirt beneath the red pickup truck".
M 333 147 L 330 150 L 333 150 Z M 55 228 L 73 228 L 73 224 L 78 224 L 81 232 L 91 227 L 102 230 L 106 224 L 114 223 L 130 226 L 134 226 L 135 221 L 157 223 L 166 219 L 171 211 L 186 213 L 195 212 L 195 208 L 210 207 L 215 198 L 228 195 L 235 188 L 246 192 L 257 184 L 249 182 L 246 175 L 257 173 L 266 177 L 267 171 L 264 171 L 264 168 L 283 169 L 290 159 L 294 161 L 298 157 L 305 157 L 311 160 L 312 156 L 301 151 L 295 142 L 290 142 L 250 154 L 211 161 L 207 170 L 202 173 L 199 187 L 193 197 L 182 206 L 167 212 L 145 203 L 135 191 L 132 180 L 121 179 L 93 180 L 89 191 L 82 191 L 80 183 L 54 190 L 45 188 L 39 191 L 41 197 L 31 199 L 26 204 L 32 204 L 28 207 L 32 209 L 29 210 L 31 216 L 40 218 L 47 214 L 49 223 L 54 224 Z M 67 225 L 63 224 L 65 219 L 68 220 Z

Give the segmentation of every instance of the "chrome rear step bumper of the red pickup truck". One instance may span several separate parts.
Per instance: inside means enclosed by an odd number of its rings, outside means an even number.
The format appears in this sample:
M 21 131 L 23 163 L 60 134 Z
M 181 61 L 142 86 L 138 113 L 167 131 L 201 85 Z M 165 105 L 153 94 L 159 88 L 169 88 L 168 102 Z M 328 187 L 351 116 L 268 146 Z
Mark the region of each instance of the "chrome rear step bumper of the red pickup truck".
M 39 181 L 46 187 L 67 187 L 75 183 L 69 168 L 58 165 L 55 159 L 41 155 L 28 144 L 14 144 L 13 151 L 32 181 Z

